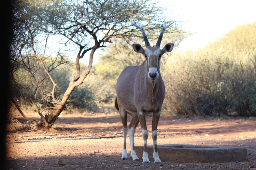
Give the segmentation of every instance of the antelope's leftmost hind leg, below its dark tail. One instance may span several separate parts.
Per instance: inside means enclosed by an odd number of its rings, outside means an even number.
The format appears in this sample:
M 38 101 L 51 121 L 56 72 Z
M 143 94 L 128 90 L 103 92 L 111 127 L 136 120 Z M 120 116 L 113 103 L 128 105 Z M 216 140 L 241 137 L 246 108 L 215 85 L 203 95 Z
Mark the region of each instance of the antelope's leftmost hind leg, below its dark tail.
M 127 160 L 127 150 L 126 150 L 126 136 L 127 136 L 127 112 L 124 107 L 119 107 L 119 114 L 123 123 L 123 133 L 124 133 L 124 148 L 122 152 L 121 160 Z

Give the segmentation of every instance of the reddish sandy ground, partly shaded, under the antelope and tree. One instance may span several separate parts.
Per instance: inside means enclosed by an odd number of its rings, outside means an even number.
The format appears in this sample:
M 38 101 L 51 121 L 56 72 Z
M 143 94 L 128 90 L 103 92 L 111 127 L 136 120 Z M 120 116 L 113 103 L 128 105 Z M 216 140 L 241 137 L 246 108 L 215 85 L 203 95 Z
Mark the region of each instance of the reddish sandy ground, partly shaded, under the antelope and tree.
M 30 115 L 31 116 L 31 115 Z M 36 115 L 32 115 L 36 116 Z M 20 116 L 16 116 L 24 122 Z M 38 117 L 34 119 L 39 120 Z M 128 121 L 131 117 L 128 117 Z M 147 117 L 148 145 L 152 145 Z M 228 163 L 151 163 L 121 160 L 122 123 L 115 114 L 62 114 L 50 131 L 15 131 L 9 122 L 6 134 L 7 169 L 249 169 L 256 170 L 256 118 L 184 118 L 161 115 L 158 145 L 189 144 L 234 146 L 247 149 L 247 160 Z M 140 124 L 135 145 L 142 146 Z M 130 152 L 129 138 L 127 151 Z M 152 156 L 152 155 L 149 155 Z M 163 155 L 159 155 L 161 158 Z M 141 158 L 140 158 L 141 159 Z M 68 165 L 59 165 L 57 160 Z

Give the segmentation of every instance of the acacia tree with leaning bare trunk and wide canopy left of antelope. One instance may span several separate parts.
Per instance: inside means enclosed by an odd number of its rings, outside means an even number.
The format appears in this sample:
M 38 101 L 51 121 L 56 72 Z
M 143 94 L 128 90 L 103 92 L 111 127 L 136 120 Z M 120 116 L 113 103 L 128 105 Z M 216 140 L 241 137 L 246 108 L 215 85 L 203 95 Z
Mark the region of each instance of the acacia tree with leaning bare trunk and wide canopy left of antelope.
M 14 22 L 14 30 L 25 36 L 17 44 L 12 44 L 14 49 L 12 61 L 16 63 L 14 64 L 16 68 L 22 67 L 32 78 L 30 84 L 34 92 L 31 93 L 31 89 L 27 88 L 26 95 L 32 94 L 29 101 L 42 118 L 37 126 L 46 129 L 51 128 L 72 91 L 81 85 L 89 74 L 97 49 L 106 47 L 106 43 L 112 43 L 114 38 L 122 38 L 128 42 L 131 37 L 141 37 L 141 31 L 135 29 L 130 22 L 138 23 L 146 32 L 152 33 L 171 20 L 171 18 L 170 20 L 163 18 L 163 10 L 149 0 L 84 0 L 75 3 L 73 1 L 21 0 L 21 2 L 24 6 L 19 5 L 16 9 L 17 22 Z M 50 72 L 68 61 L 60 51 L 53 57 L 45 55 L 48 37 L 52 34 L 61 35 L 64 37 L 61 40 L 63 45 L 77 50 L 76 76 L 70 81 L 62 99 L 54 96 L 57 84 Z M 39 46 L 39 35 L 45 37 L 43 49 Z M 80 59 L 87 52 L 89 52 L 89 64 L 81 72 Z M 15 72 L 15 67 L 12 68 L 11 73 Z M 35 73 L 42 70 L 44 74 L 41 73 L 40 78 L 35 77 Z M 15 80 L 14 76 L 13 79 Z M 52 86 L 45 85 L 46 79 L 52 83 Z M 41 98 L 37 97 L 39 90 L 41 90 Z M 40 111 L 37 102 L 41 100 L 47 104 Z M 15 100 L 12 101 L 15 103 Z M 15 105 L 18 108 L 17 103 Z M 45 112 L 44 116 L 42 112 Z

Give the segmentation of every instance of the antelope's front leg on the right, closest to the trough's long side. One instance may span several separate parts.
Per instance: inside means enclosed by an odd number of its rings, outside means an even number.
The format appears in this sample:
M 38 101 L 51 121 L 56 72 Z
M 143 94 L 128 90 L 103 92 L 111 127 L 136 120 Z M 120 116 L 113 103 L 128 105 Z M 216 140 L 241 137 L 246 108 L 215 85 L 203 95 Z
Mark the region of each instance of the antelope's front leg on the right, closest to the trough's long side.
M 153 152 L 153 158 L 155 159 L 155 162 L 161 162 L 158 152 L 157 152 L 157 125 L 160 118 L 161 111 L 154 112 L 153 113 L 153 119 L 152 119 L 152 139 L 153 139 L 153 146 L 154 146 L 154 152 Z

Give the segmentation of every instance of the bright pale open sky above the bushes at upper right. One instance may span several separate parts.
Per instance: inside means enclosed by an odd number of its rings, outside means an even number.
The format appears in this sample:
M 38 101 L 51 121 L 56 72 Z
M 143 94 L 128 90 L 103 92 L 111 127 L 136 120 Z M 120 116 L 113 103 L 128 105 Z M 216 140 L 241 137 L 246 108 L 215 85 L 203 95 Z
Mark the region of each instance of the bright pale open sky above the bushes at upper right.
M 182 51 L 197 50 L 237 26 L 256 21 L 256 0 L 166 0 L 161 3 L 172 10 L 174 20 L 187 21 L 183 28 L 194 33 L 179 45 Z

